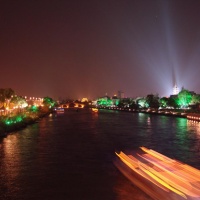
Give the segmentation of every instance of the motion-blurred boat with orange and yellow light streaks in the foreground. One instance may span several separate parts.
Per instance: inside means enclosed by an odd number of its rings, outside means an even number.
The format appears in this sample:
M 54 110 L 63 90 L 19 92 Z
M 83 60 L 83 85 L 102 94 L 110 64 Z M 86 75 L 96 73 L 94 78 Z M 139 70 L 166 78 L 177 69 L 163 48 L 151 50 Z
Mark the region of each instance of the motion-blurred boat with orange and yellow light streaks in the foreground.
M 153 199 L 200 199 L 200 170 L 152 149 L 117 153 L 118 169 Z

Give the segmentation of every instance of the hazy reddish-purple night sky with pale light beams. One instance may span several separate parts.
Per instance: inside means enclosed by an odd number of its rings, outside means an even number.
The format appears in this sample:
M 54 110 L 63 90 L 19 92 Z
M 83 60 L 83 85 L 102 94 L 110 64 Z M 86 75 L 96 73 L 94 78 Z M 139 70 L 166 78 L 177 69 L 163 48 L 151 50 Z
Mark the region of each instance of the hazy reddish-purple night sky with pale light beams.
M 4 0 L 0 66 L 25 96 L 200 93 L 200 0 Z

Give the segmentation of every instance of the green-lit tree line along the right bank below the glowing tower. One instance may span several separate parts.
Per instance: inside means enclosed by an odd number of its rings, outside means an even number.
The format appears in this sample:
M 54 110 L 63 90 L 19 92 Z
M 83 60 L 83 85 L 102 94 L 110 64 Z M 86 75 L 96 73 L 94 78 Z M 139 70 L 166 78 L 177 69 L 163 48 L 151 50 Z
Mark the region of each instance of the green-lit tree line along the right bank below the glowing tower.
M 100 98 L 97 100 L 98 106 L 117 106 L 117 107 L 129 107 L 133 109 L 178 109 L 178 108 L 198 108 L 200 104 L 200 95 L 195 92 L 191 92 L 185 88 L 182 88 L 177 95 L 171 95 L 170 97 L 160 98 L 158 94 L 148 94 L 146 97 L 138 98 L 123 98 L 123 99 L 111 99 L 109 97 Z

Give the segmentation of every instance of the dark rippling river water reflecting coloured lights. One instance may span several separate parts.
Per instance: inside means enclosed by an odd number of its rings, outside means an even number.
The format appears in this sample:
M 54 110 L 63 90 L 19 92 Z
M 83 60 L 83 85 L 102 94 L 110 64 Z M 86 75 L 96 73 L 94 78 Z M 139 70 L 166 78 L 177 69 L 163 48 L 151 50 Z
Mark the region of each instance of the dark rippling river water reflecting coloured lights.
M 187 119 L 68 110 L 0 140 L 1 200 L 150 199 L 114 166 L 152 148 L 200 169 L 200 125 Z

